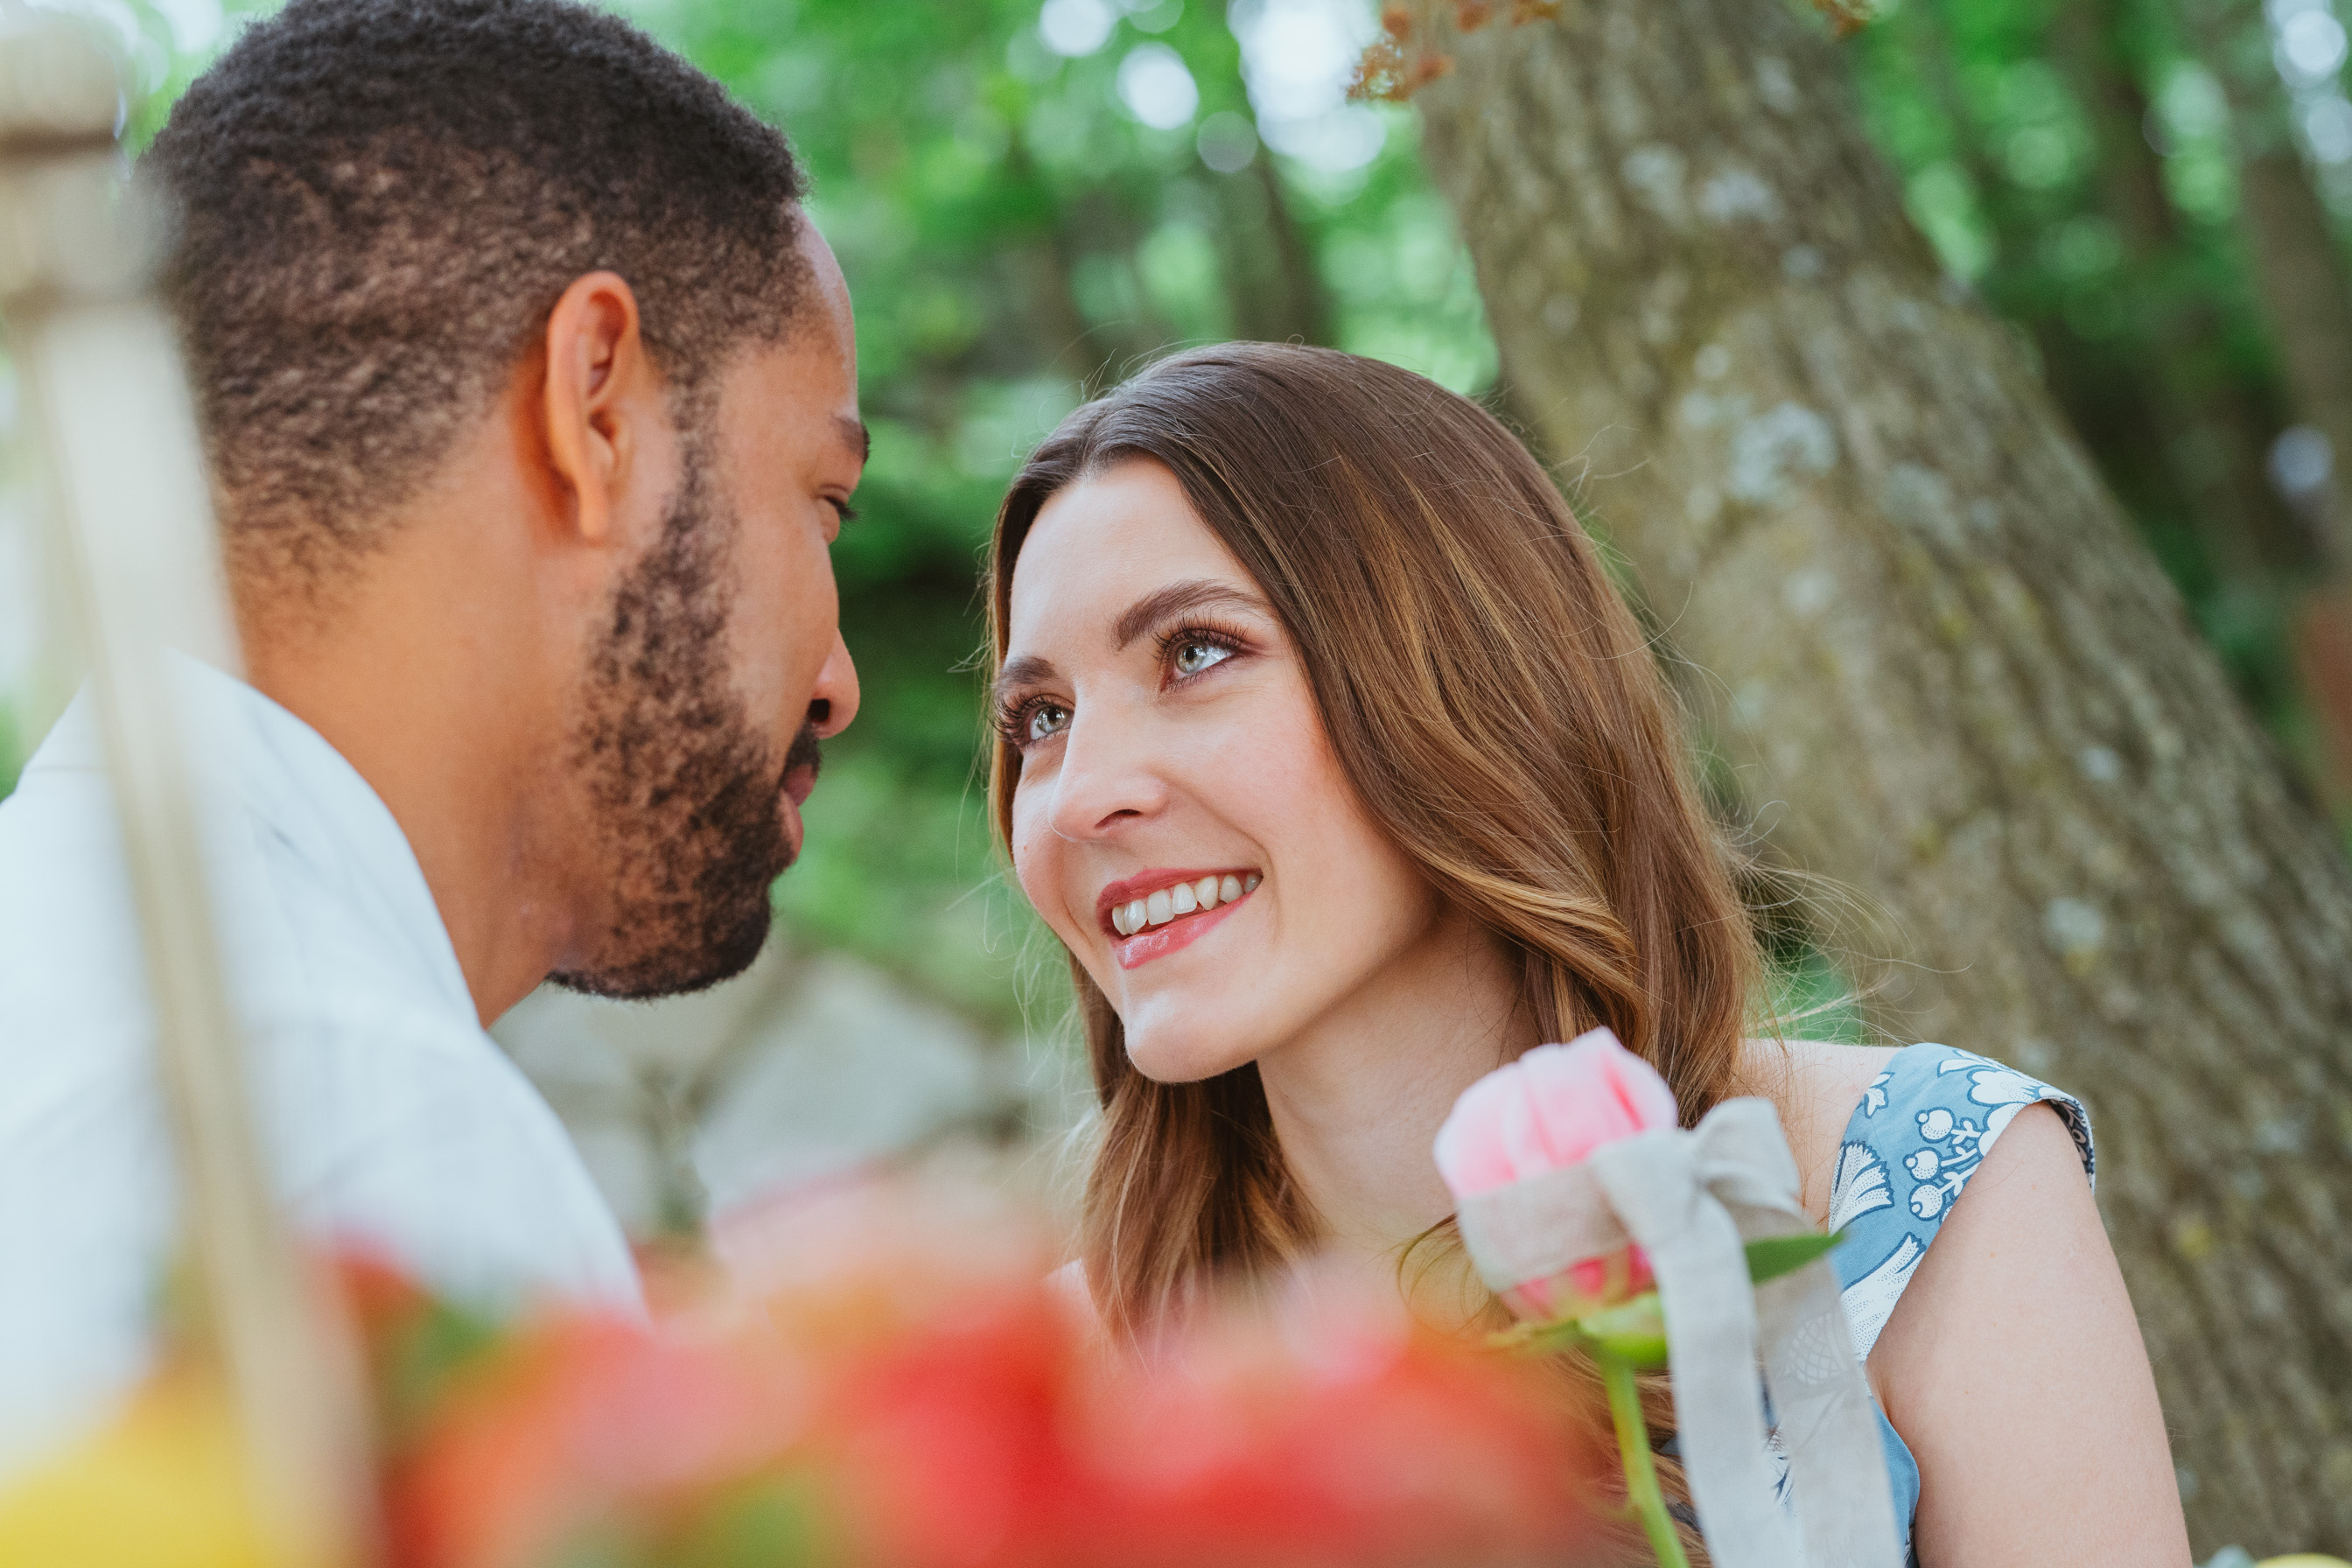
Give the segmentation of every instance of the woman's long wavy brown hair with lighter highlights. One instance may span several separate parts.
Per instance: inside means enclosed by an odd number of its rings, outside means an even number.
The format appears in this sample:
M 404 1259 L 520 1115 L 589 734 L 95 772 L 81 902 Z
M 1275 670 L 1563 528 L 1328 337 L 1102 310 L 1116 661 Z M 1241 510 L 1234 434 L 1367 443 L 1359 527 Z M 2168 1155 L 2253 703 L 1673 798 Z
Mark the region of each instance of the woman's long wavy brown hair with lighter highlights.
M 1070 414 L 1014 480 L 988 562 L 997 665 L 1040 508 L 1138 458 L 1176 475 L 1282 618 L 1371 818 L 1519 957 L 1541 1039 L 1609 1025 L 1686 1124 L 1703 1117 L 1738 1063 L 1757 943 L 1675 703 L 1550 475 L 1475 402 L 1378 360 L 1277 343 L 1162 360 Z M 1004 844 L 1018 778 L 1000 741 Z M 1256 1065 L 1145 1079 L 1070 969 L 1103 1112 L 1084 1272 L 1105 1324 L 1134 1333 L 1317 1222 Z

